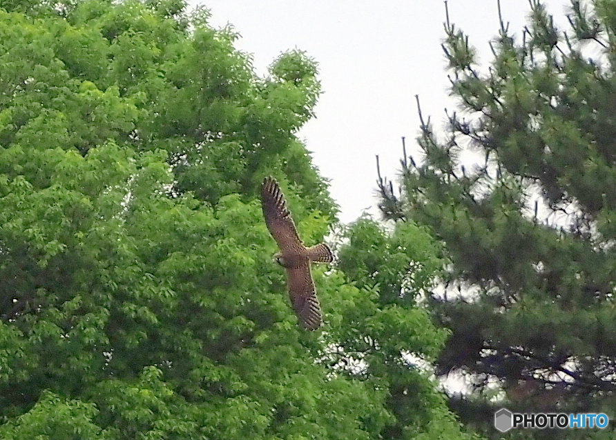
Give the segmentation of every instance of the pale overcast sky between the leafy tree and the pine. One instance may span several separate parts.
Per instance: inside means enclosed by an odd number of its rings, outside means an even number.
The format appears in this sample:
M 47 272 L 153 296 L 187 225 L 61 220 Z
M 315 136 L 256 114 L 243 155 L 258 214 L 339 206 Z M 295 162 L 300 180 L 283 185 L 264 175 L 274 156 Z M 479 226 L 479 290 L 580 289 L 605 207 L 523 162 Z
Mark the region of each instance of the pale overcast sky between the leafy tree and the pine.
M 565 28 L 569 1 L 544 2 Z M 340 220 L 353 221 L 374 209 L 376 163 L 397 177 L 401 137 L 412 152 L 419 120 L 443 126 L 448 97 L 441 41 L 445 6 L 440 0 L 192 0 L 211 10 L 211 24 L 231 23 L 242 38 L 236 47 L 253 54 L 264 75 L 281 52 L 305 50 L 318 61 L 324 93 L 316 119 L 300 132 L 314 163 L 331 179 L 331 195 Z M 462 28 L 479 50 L 483 67 L 490 61 L 488 42 L 499 30 L 496 0 L 449 0 L 450 21 Z M 529 11 L 526 0 L 501 0 L 503 19 L 519 34 Z

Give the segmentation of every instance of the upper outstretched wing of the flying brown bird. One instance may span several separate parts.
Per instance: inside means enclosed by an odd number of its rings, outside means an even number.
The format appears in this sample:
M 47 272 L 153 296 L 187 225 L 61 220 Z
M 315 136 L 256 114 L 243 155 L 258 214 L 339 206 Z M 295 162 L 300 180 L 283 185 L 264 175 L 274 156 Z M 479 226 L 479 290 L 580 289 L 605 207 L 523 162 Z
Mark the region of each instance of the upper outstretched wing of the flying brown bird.
M 278 186 L 278 182 L 271 177 L 266 177 L 261 185 L 261 206 L 265 224 L 278 248 L 285 250 L 304 248 L 298 231 L 291 218 L 291 212 L 287 208 L 287 201 Z

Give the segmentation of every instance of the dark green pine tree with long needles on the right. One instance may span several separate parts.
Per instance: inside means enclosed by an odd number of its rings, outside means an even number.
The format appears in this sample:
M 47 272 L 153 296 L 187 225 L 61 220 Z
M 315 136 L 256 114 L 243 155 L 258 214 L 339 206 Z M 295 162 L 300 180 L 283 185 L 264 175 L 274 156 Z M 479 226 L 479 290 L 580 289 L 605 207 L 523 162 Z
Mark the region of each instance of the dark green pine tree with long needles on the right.
M 443 137 L 422 122 L 422 160 L 403 160 L 401 197 L 381 183 L 382 208 L 446 243 L 447 295 L 431 304 L 452 330 L 441 373 L 468 373 L 485 398 L 496 381 L 512 410 L 613 419 L 616 2 L 573 1 L 567 32 L 530 4 L 521 38 L 502 26 L 483 74 L 447 23 L 462 111 L 449 114 Z M 483 160 L 469 166 L 466 150 Z M 455 404 L 468 421 L 492 423 L 494 400 Z M 567 438 L 579 435 L 588 433 Z

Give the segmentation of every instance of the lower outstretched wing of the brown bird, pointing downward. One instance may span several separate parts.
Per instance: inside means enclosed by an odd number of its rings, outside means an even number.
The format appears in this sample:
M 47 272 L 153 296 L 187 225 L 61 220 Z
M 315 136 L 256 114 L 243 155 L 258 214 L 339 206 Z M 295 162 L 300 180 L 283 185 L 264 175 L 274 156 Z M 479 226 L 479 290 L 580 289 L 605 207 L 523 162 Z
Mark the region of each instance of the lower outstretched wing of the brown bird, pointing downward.
M 287 282 L 289 297 L 302 327 L 316 330 L 321 324 L 322 314 L 310 266 L 306 264 L 299 268 L 287 268 Z

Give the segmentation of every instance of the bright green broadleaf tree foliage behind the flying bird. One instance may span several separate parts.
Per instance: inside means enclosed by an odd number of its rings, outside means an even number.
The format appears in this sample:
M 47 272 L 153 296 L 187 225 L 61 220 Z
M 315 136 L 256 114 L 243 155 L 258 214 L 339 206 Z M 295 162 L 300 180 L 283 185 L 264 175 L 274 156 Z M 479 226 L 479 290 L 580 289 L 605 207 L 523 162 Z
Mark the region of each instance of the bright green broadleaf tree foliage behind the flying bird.
M 178 1 L 0 6 L 1 439 L 469 437 L 407 356 L 444 338 L 425 232 L 358 222 L 315 270 L 325 329 L 289 307 L 256 190 L 307 243 L 334 222 L 295 134 L 314 61 L 261 79 Z

